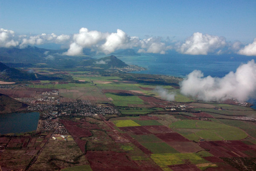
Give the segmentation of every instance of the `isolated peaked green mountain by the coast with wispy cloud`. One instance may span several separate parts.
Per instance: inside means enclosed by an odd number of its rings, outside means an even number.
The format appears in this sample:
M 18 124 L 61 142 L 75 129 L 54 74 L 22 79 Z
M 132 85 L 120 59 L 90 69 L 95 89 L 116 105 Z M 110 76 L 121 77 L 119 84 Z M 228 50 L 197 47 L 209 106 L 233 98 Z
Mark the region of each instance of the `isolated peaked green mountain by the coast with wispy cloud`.
M 100 59 L 86 60 L 83 62 L 83 66 L 92 66 L 108 69 L 111 67 L 122 68 L 128 65 L 122 60 L 119 60 L 117 57 L 111 55 L 108 57 L 102 57 Z

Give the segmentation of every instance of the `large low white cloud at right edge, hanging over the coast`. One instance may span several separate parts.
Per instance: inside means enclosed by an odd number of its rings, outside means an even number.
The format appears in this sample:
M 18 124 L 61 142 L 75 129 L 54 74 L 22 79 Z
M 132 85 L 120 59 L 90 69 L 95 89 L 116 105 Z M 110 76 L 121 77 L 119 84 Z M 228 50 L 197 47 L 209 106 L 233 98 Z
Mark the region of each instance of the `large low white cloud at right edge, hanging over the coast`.
M 204 77 L 201 71 L 195 70 L 180 83 L 182 94 L 204 101 L 219 101 L 230 98 L 245 101 L 255 96 L 255 91 L 256 63 L 254 60 L 242 64 L 235 73 L 230 72 L 222 78 Z

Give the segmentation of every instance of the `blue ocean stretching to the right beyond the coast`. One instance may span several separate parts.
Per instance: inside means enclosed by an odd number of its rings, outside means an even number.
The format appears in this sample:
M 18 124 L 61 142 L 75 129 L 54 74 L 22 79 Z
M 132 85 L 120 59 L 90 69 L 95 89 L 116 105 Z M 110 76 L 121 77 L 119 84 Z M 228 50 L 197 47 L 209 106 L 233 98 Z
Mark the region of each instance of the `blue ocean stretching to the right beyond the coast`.
M 106 56 L 106 55 L 105 55 Z M 98 56 L 99 57 L 105 57 Z M 204 77 L 224 77 L 230 71 L 236 72 L 242 63 L 256 60 L 256 57 L 248 57 L 239 54 L 220 55 L 186 55 L 172 52 L 169 54 L 141 54 L 141 56 L 119 56 L 120 60 L 129 65 L 138 65 L 147 68 L 145 71 L 137 71 L 141 74 L 163 74 L 175 77 L 186 77 L 194 70 L 201 70 Z M 256 96 L 247 100 L 256 108 Z

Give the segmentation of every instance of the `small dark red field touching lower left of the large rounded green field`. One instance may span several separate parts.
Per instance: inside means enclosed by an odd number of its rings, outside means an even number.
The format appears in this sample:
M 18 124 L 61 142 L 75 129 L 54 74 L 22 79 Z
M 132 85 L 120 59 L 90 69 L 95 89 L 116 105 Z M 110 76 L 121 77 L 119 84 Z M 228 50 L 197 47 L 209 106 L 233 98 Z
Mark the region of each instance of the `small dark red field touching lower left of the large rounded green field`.
M 178 133 L 154 134 L 164 142 L 190 142 Z

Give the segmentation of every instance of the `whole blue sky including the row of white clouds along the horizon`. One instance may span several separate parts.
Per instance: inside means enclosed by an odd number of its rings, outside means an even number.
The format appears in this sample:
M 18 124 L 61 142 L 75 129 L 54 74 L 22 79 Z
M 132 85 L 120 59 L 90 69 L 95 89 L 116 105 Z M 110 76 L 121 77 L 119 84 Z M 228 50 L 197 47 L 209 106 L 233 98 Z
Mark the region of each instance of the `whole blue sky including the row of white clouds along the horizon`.
M 1 0 L 0 28 L 0 47 L 58 43 L 70 55 L 134 47 L 256 55 L 255 0 Z

